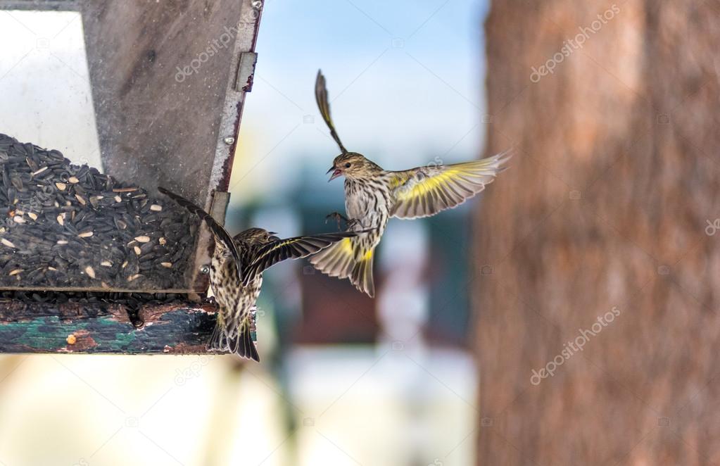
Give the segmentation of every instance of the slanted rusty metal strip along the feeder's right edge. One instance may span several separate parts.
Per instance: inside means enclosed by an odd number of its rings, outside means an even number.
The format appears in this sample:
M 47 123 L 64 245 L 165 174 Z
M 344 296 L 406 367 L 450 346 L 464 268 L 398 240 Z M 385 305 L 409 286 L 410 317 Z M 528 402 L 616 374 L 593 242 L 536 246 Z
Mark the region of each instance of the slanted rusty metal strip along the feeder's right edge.
M 222 104 L 222 119 L 217 132 L 215 160 L 212 164 L 207 199 L 205 200 L 205 207 L 207 208 L 212 208 L 213 192 L 228 192 L 229 190 L 230 174 L 233 170 L 233 159 L 235 158 L 235 148 L 238 145 L 238 132 L 240 130 L 240 120 L 243 117 L 246 94 L 246 90 L 236 89 L 238 73 L 240 73 L 240 59 L 243 53 L 255 52 L 263 6 L 264 2 L 260 0 L 243 0 L 243 6 L 240 9 L 240 20 L 237 25 L 238 32 L 235 36 L 232 62 L 230 63 L 231 71 L 230 76 L 228 76 L 228 84 L 225 86 L 225 102 Z M 253 64 L 253 72 L 254 69 Z M 252 82 L 252 76 L 249 79 Z M 227 204 L 225 207 L 227 207 Z M 215 218 L 215 215 L 213 217 Z M 222 215 L 222 217 L 224 219 L 225 215 Z M 194 290 L 198 292 L 207 290 L 209 285 L 207 275 L 200 274 L 199 269 L 202 264 L 210 263 L 212 254 L 210 232 L 207 228 L 202 228 L 200 231 L 195 253 L 196 267 L 192 279 Z

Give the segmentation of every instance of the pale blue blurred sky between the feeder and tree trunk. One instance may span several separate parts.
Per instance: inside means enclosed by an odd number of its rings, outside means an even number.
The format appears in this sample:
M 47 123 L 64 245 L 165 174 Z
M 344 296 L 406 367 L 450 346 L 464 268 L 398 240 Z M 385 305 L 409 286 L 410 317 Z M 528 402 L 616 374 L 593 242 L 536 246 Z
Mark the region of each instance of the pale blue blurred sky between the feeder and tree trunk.
M 476 158 L 485 135 L 486 9 L 482 0 L 266 0 L 233 203 L 292 186 L 298 166 L 325 182 L 338 148 L 315 106 L 318 68 L 349 150 L 387 169 Z

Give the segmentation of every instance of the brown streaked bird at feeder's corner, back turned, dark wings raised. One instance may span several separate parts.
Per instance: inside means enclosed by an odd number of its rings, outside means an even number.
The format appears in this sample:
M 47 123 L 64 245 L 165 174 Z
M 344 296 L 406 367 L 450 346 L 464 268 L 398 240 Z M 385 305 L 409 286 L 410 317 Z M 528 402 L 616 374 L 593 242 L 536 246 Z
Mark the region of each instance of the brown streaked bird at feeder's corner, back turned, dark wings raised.
M 204 220 L 215 237 L 210 284 L 220 312 L 208 349 L 229 350 L 258 362 L 260 356 L 251 336 L 251 312 L 260 295 L 263 271 L 285 259 L 310 256 L 357 234 L 339 232 L 280 239 L 262 228 L 249 228 L 231 238 L 202 208 L 162 187 L 158 191 Z

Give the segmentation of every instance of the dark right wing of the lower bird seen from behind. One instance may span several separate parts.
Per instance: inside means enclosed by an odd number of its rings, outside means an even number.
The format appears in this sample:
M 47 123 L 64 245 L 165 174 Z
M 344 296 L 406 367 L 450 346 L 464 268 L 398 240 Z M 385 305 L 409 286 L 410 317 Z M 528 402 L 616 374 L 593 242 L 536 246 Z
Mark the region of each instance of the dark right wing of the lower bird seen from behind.
M 352 238 L 357 233 L 341 231 L 338 233 L 323 233 L 315 236 L 297 236 L 274 241 L 262 246 L 255 259 L 246 269 L 243 281 L 248 283 L 256 274 L 285 259 L 300 259 L 315 254 L 318 251 L 332 246 L 344 238 Z

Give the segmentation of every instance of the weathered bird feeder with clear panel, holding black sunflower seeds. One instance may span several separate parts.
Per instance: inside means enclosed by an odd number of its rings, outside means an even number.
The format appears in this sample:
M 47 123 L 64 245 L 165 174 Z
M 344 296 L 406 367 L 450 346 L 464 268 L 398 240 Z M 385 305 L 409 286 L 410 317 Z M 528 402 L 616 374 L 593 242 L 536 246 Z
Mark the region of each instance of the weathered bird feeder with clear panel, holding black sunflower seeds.
M 0 134 L 0 351 L 204 351 L 212 236 L 157 187 L 223 223 L 262 5 L 0 0 L 81 15 L 101 153 Z

